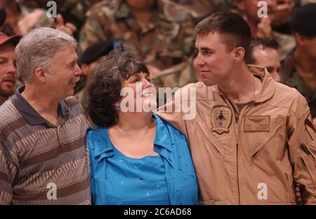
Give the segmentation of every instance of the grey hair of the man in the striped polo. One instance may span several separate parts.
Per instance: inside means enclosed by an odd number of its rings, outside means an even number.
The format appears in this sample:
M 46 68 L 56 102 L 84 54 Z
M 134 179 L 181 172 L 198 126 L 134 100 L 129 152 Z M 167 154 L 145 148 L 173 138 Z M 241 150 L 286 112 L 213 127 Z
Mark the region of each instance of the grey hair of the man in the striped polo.
M 37 68 L 51 73 L 53 57 L 59 50 L 65 50 L 69 46 L 76 50 L 77 42 L 63 31 L 48 27 L 29 31 L 15 47 L 16 65 L 23 81 L 30 82 Z

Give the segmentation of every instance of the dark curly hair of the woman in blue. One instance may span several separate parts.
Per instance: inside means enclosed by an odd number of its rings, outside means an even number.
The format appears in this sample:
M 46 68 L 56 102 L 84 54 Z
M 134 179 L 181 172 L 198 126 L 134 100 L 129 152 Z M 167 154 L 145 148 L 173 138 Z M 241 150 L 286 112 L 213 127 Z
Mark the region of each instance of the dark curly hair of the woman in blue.
M 121 85 L 140 72 L 149 74 L 145 63 L 131 52 L 112 50 L 101 59 L 91 72 L 87 90 L 88 114 L 96 125 L 111 127 L 117 124 L 114 104 L 121 99 Z

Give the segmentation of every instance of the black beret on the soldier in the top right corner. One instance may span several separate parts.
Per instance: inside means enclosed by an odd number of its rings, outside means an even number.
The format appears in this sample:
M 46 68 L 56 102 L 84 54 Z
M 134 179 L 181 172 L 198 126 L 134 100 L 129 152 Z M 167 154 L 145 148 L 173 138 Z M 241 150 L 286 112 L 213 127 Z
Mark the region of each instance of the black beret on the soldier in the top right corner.
M 303 36 L 316 36 L 316 3 L 296 8 L 291 19 L 291 29 Z

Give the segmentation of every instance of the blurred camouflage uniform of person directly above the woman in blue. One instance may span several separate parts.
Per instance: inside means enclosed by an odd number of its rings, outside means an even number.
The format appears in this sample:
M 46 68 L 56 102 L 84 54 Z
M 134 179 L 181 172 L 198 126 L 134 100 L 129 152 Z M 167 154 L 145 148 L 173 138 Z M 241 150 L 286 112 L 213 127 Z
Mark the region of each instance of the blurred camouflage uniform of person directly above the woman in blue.
M 157 0 L 157 10 L 144 29 L 124 1 L 103 1 L 87 13 L 79 37 L 79 53 L 97 41 L 112 40 L 141 57 L 146 64 L 161 70 L 172 69 L 191 55 L 193 29 L 190 13 L 170 1 Z

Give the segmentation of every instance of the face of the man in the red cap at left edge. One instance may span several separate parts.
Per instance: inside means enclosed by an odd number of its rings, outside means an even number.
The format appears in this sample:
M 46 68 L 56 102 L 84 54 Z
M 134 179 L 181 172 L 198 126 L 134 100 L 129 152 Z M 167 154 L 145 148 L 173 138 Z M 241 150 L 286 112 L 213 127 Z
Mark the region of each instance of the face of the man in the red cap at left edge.
M 11 43 L 0 45 L 0 95 L 10 97 L 16 81 L 14 46 Z

